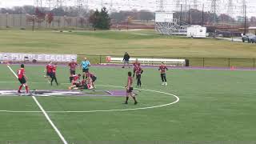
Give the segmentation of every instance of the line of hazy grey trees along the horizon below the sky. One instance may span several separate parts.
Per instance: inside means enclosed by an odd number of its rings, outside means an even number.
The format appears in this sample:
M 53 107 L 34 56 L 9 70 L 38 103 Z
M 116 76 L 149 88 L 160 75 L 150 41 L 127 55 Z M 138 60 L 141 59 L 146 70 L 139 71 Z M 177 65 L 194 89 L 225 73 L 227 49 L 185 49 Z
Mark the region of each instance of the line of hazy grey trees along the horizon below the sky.
M 46 17 L 52 19 L 53 16 L 66 16 L 66 17 L 79 17 L 89 18 L 92 26 L 102 28 L 110 27 L 110 22 L 121 23 L 129 21 L 129 18 L 133 20 L 142 20 L 149 22 L 154 20 L 154 12 L 149 10 L 112 10 L 107 11 L 106 8 L 102 10 L 90 10 L 90 9 L 78 9 L 76 6 L 63 6 L 48 10 L 45 7 L 36 8 L 35 6 L 14 6 L 12 8 L 1 8 L 0 13 L 2 14 L 30 14 L 37 15 L 38 19 Z M 240 16 L 232 18 L 227 14 L 214 14 L 209 11 L 202 12 L 201 10 L 187 10 L 186 12 L 176 11 L 174 18 L 180 19 L 183 22 L 198 25 L 207 25 L 213 22 L 217 23 L 243 23 L 244 17 Z M 102 23 L 98 23 L 101 21 Z M 51 21 L 49 21 L 51 22 Z M 97 23 L 95 23 L 97 22 Z M 248 26 L 256 25 L 256 17 L 246 17 Z M 107 24 L 108 23 L 108 24 Z

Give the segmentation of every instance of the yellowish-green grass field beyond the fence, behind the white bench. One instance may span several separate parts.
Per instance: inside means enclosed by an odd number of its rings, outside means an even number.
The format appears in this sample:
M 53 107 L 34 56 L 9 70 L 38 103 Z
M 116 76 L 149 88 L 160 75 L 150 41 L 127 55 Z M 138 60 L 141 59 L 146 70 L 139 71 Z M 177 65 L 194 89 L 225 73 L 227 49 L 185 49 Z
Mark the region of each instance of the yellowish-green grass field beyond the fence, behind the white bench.
M 153 35 L 138 35 L 153 34 Z M 122 55 L 187 58 L 256 58 L 256 45 L 215 39 L 190 39 L 155 34 L 151 30 L 0 31 L 1 52 Z

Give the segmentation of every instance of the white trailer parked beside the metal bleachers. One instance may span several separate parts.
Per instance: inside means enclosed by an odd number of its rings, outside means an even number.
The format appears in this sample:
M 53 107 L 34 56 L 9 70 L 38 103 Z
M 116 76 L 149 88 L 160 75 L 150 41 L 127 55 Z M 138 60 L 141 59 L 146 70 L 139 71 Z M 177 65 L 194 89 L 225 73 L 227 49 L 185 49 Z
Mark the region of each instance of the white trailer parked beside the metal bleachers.
M 189 26 L 187 27 L 186 37 L 189 38 L 206 38 L 206 27 L 203 26 Z

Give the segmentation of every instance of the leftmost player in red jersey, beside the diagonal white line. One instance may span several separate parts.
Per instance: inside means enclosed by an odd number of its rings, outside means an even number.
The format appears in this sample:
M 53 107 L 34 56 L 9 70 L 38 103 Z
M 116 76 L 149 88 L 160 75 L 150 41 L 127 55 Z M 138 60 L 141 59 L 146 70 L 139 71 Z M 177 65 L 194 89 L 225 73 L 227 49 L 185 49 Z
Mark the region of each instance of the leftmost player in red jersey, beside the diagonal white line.
M 25 68 L 24 64 L 21 65 L 21 68 L 18 70 L 18 81 L 21 82 L 21 86 L 18 88 L 18 93 L 22 93 L 22 86 L 25 86 L 26 88 L 26 94 L 29 94 L 29 86 L 26 84 L 26 74 L 25 74 Z

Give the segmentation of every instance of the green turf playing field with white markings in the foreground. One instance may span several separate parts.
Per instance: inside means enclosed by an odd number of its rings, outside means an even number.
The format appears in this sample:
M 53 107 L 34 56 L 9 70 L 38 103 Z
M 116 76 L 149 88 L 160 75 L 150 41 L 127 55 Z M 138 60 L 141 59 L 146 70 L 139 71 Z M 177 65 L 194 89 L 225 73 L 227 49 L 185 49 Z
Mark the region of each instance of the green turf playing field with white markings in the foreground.
M 18 70 L 18 66 L 10 67 Z M 67 67 L 58 67 L 60 86 L 50 86 L 43 78 L 43 69 L 26 66 L 30 90 L 67 90 Z M 91 67 L 91 71 L 98 77 L 97 90 L 124 90 L 128 69 Z M 1 90 L 18 88 L 7 66 L 0 65 L 0 73 Z M 171 69 L 167 72 L 169 85 L 161 86 L 158 70 L 148 68 L 142 74 L 145 90 L 138 92 L 137 106 L 131 100 L 123 105 L 123 97 L 36 98 L 70 144 L 256 143 L 255 78 L 255 71 Z M 177 100 L 148 90 L 175 94 L 180 101 L 146 110 L 88 112 L 161 106 Z M 28 112 L 40 111 L 30 96 L 1 96 L 0 111 L 1 144 L 62 143 L 41 112 Z

